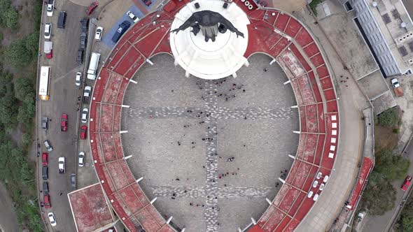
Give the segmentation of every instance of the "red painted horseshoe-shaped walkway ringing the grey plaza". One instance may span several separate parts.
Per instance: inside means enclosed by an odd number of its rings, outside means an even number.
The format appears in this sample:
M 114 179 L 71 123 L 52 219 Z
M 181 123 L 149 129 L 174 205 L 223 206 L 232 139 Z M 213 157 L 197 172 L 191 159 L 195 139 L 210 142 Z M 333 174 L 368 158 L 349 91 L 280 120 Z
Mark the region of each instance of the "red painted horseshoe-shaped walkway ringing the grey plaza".
M 90 145 L 99 180 L 116 214 L 130 231 L 174 231 L 134 179 L 123 160 L 120 111 L 130 78 L 148 57 L 172 54 L 169 29 L 185 1 L 170 1 L 127 31 L 99 73 L 90 106 Z M 300 113 L 300 142 L 286 183 L 251 231 L 293 231 L 307 215 L 313 197 L 321 194 L 330 175 L 338 146 L 339 113 L 335 89 L 323 56 L 300 22 L 279 10 L 248 10 L 251 20 L 245 57 L 265 52 L 281 65 L 290 79 Z M 176 4 L 176 6 L 173 6 Z M 157 17 L 156 14 L 160 15 Z M 132 84 L 134 85 L 134 84 Z M 321 173 L 320 179 L 316 175 Z M 317 180 L 318 184 L 314 185 Z M 326 184 L 326 183 L 324 183 Z M 328 184 L 328 181 L 327 181 Z M 307 198 L 313 191 L 311 198 Z

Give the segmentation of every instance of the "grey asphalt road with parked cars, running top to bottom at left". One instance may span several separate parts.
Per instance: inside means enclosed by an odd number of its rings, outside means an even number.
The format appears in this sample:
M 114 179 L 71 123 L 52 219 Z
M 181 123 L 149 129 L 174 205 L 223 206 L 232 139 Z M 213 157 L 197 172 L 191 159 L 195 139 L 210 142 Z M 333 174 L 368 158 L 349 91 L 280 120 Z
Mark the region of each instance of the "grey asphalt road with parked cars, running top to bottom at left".
M 55 1 L 55 13 L 52 17 L 43 15 L 43 23 L 52 23 L 52 38 L 53 42 L 53 58 L 40 59 L 41 66 L 51 67 L 51 82 L 50 82 L 50 100 L 39 101 L 37 118 L 40 120 L 42 116 L 47 116 L 50 119 L 49 130 L 45 133 L 41 130 L 38 123 L 38 140 L 41 143 L 41 150 L 44 151 L 43 140 L 48 139 L 53 147 L 53 151 L 49 153 L 49 189 L 50 201 L 52 208 L 45 209 L 43 218 L 47 224 L 47 213 L 54 212 L 57 226 L 53 227 L 53 231 L 76 231 L 73 217 L 71 216 L 71 208 L 67 195 L 73 191 L 69 176 L 71 173 L 76 173 L 77 155 L 76 155 L 76 140 L 79 112 L 77 97 L 81 96 L 83 89 L 75 86 L 75 73 L 83 71 L 83 66 L 76 64 L 76 55 L 80 45 L 80 20 L 85 17 L 86 8 L 78 6 L 71 1 Z M 57 28 L 57 18 L 59 11 L 66 11 L 66 28 Z M 42 29 L 43 31 L 43 25 Z M 41 39 L 41 51 L 43 53 L 43 38 Z M 41 57 L 42 58 L 42 57 Z M 60 131 L 60 117 L 62 113 L 69 115 L 68 131 Z M 66 157 L 66 173 L 59 174 L 57 168 L 57 159 Z M 40 162 L 40 160 L 38 160 Z M 39 167 L 41 167 L 39 165 Z M 38 168 L 38 176 L 41 177 L 41 170 Z M 43 180 L 39 180 L 40 186 Z M 41 201 L 43 194 L 41 194 Z M 50 226 L 48 226 L 50 228 Z

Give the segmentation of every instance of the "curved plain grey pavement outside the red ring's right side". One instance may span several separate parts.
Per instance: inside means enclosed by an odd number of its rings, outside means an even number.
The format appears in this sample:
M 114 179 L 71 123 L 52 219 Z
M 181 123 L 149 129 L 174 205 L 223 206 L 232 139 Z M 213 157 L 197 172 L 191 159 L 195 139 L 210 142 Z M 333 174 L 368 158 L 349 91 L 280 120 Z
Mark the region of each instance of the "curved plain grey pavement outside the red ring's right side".
M 296 229 L 296 231 L 303 232 L 326 231 L 344 207 L 344 201 L 349 197 L 356 181 L 363 145 L 361 111 L 369 108 L 370 103 L 360 91 L 351 72 L 343 68 L 344 62 L 349 57 L 346 57 L 346 53 L 342 53 L 342 49 L 335 50 L 335 45 L 332 45 L 321 31 L 319 27 L 321 23 L 312 23 L 314 19 L 309 15 L 307 8 L 296 13 L 295 16 L 307 23 L 307 27 L 315 35 L 318 44 L 323 45 L 323 55 L 327 55 L 325 58 L 330 64 L 332 71 L 330 74 L 335 83 L 337 97 L 339 97 L 340 132 L 335 165 L 323 193 Z M 328 27 L 339 26 L 331 23 Z M 341 59 L 342 57 L 344 59 Z

